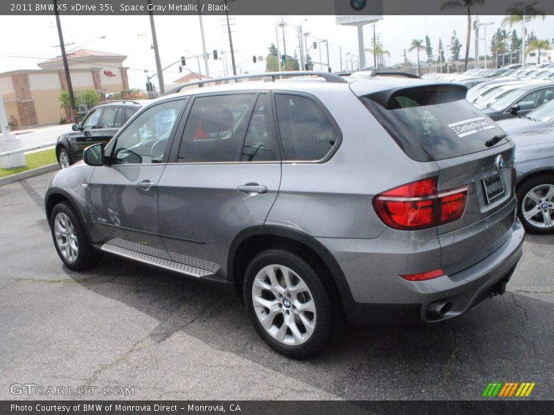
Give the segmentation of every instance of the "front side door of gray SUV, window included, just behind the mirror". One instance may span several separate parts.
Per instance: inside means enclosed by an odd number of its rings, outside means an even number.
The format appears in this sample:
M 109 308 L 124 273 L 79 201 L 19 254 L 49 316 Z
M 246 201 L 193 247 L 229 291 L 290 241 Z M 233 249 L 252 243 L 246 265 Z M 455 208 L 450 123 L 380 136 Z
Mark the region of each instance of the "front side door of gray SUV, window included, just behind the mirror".
M 89 183 L 96 236 L 121 249 L 167 258 L 159 236 L 157 184 L 183 98 L 145 109 L 107 145 L 108 163 Z

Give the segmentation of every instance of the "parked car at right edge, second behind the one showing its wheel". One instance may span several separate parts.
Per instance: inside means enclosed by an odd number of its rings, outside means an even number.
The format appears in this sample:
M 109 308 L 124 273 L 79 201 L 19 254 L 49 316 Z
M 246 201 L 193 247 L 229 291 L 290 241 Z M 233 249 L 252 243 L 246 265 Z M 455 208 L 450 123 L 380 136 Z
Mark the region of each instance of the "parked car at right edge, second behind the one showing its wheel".
M 525 116 L 553 98 L 553 82 L 530 82 L 491 102 L 484 113 L 494 121 Z

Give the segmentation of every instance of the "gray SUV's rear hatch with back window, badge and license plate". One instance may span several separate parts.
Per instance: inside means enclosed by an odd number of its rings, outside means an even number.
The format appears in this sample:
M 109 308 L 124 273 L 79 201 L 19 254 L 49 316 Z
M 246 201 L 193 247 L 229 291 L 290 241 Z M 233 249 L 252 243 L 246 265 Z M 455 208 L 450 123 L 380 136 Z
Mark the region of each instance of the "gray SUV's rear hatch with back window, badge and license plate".
M 436 228 L 449 275 L 497 250 L 515 219 L 514 145 L 465 100 L 466 91 L 456 84 L 427 84 L 358 94 L 407 156 L 438 165 L 438 192 L 467 187 L 461 218 Z

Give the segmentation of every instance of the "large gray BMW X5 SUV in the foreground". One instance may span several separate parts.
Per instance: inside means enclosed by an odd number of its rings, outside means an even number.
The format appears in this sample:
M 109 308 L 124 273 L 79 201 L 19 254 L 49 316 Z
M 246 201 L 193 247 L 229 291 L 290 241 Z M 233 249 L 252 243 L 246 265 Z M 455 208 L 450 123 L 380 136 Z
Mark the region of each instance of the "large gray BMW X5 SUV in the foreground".
M 505 291 L 524 240 L 514 145 L 464 86 L 278 75 L 176 89 L 58 172 L 64 264 L 105 253 L 234 288 L 294 358 L 343 317 L 440 322 Z

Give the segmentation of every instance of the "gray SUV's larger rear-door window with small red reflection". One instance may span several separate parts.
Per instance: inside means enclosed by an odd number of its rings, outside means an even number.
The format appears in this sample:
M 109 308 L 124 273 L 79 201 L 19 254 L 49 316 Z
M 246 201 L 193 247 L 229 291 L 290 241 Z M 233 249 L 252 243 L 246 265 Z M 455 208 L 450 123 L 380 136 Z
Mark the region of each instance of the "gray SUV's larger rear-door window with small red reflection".
M 238 161 L 255 101 L 255 94 L 196 98 L 186 121 L 177 161 Z

